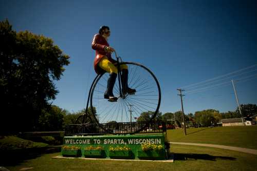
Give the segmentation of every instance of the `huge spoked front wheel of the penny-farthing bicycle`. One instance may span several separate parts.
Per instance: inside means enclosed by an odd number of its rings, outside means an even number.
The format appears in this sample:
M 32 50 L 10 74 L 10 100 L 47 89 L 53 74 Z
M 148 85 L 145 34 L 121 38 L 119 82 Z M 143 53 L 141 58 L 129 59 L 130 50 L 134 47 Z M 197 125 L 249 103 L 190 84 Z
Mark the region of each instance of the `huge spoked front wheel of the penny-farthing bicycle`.
M 104 99 L 109 73 L 98 75 L 90 96 L 91 111 L 96 111 L 95 120 L 99 123 L 151 122 L 157 115 L 161 101 L 161 91 L 155 75 L 145 66 L 137 63 L 121 63 L 128 66 L 128 87 L 136 89 L 135 94 L 120 96 L 118 77 L 113 93 L 117 102 Z M 146 127 L 141 124 L 131 132 L 139 132 Z

